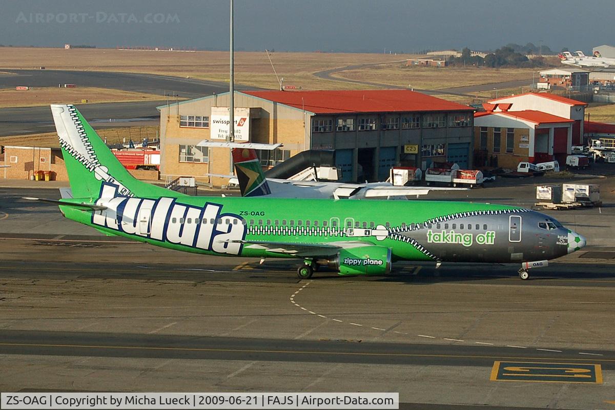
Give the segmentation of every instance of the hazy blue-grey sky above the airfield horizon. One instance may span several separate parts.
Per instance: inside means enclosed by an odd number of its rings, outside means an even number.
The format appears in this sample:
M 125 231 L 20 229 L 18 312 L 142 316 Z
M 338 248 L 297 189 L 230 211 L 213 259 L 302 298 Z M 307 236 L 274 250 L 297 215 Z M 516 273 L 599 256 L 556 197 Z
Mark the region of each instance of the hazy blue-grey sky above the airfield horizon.
M 236 0 L 236 50 L 615 44 L 614 0 Z M 0 44 L 228 49 L 229 0 L 0 0 Z M 0 65 L 2 55 L 0 51 Z

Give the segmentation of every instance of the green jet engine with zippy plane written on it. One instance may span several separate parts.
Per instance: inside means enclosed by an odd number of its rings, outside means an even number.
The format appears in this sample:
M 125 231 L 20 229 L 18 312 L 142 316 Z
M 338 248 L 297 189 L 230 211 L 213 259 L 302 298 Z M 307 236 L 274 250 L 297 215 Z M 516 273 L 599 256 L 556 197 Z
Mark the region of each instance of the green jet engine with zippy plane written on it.
M 391 249 L 369 245 L 343 249 L 327 265 L 340 275 L 385 275 L 391 272 Z

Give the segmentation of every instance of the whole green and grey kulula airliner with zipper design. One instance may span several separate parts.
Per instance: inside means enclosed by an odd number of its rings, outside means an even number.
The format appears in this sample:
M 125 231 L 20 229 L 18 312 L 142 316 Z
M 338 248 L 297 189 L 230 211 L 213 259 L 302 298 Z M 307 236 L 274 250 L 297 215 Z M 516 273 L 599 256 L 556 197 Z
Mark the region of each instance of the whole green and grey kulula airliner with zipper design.
M 73 197 L 29 199 L 56 203 L 107 235 L 208 255 L 295 258 L 300 278 L 319 266 L 383 275 L 392 262 L 432 261 L 517 262 L 527 279 L 528 269 L 585 245 L 550 216 L 508 205 L 188 196 L 133 178 L 74 106 L 51 110 Z

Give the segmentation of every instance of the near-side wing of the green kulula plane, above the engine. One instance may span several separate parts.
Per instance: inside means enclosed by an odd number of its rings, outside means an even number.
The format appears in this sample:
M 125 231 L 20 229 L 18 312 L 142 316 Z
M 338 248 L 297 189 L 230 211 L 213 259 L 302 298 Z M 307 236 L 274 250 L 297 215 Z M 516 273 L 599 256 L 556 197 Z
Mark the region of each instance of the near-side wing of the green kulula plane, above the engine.
M 329 243 L 300 243 L 300 242 L 269 242 L 265 240 L 228 240 L 228 243 L 243 243 L 252 249 L 264 249 L 271 253 L 288 254 L 298 257 L 333 256 L 340 249 L 356 248 L 370 245 L 359 240 Z

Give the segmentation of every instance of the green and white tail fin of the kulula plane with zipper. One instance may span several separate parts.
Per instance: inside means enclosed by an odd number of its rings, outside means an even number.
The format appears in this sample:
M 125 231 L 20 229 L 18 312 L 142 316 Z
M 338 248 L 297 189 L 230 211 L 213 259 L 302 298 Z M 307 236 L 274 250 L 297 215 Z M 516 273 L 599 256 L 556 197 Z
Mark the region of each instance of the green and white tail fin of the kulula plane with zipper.
M 74 197 L 96 198 L 103 184 L 115 186 L 122 196 L 178 195 L 130 175 L 73 105 L 52 104 L 51 112 Z

